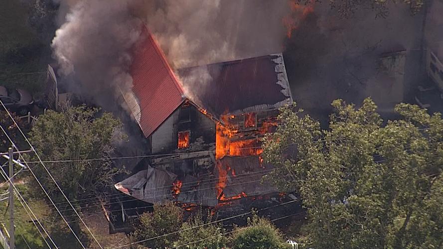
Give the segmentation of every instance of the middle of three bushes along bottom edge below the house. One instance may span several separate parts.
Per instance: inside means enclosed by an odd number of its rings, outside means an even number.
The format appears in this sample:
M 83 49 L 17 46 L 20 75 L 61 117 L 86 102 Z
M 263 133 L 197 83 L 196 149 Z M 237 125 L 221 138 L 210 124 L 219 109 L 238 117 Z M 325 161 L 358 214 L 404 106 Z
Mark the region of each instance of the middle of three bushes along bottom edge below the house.
M 208 224 L 212 221 L 212 216 L 208 215 L 206 222 L 203 221 L 201 211 L 195 216 L 181 225 L 181 232 L 178 234 L 179 239 L 176 242 L 180 248 L 196 248 L 196 249 L 217 249 L 225 248 L 227 238 L 223 235 L 222 224 Z M 197 227 L 191 229 L 193 227 Z M 195 242 L 195 243 L 194 243 Z

